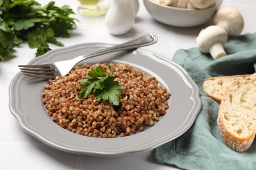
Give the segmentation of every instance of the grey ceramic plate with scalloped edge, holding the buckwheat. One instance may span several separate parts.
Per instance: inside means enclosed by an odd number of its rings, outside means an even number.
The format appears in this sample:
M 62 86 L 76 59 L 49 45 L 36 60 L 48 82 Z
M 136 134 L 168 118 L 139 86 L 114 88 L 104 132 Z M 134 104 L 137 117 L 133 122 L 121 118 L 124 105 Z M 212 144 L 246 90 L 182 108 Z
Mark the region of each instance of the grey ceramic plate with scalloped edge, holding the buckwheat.
M 110 44 L 85 43 L 58 48 L 32 59 L 30 64 L 70 59 L 108 46 Z M 182 67 L 144 49 L 115 52 L 86 60 L 89 64 L 98 61 L 129 63 L 149 75 L 156 76 L 160 84 L 171 92 L 167 114 L 161 116 L 154 126 L 127 137 L 104 139 L 77 135 L 55 124 L 47 114 L 41 96 L 47 80 L 17 73 L 9 88 L 9 107 L 22 129 L 58 150 L 96 156 L 121 156 L 156 148 L 181 136 L 192 126 L 201 108 L 199 89 Z

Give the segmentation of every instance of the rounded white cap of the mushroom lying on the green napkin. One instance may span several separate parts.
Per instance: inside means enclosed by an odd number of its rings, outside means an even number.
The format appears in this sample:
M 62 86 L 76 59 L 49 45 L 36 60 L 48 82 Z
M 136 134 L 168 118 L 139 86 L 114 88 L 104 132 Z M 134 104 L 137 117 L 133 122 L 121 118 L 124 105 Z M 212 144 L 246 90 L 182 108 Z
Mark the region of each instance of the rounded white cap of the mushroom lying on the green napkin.
M 196 42 L 200 48 L 201 52 L 208 53 L 209 48 L 215 43 L 226 44 L 228 41 L 228 35 L 222 27 L 217 25 L 211 25 L 202 29 L 198 37 L 196 37 Z

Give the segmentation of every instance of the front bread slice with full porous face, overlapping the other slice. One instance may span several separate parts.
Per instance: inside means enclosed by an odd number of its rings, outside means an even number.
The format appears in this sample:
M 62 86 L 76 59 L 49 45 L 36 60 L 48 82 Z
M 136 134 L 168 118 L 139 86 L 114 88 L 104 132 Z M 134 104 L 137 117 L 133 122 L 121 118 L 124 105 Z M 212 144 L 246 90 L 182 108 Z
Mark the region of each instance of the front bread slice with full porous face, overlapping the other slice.
M 223 95 L 217 124 L 226 146 L 244 152 L 256 133 L 256 76 L 236 79 Z

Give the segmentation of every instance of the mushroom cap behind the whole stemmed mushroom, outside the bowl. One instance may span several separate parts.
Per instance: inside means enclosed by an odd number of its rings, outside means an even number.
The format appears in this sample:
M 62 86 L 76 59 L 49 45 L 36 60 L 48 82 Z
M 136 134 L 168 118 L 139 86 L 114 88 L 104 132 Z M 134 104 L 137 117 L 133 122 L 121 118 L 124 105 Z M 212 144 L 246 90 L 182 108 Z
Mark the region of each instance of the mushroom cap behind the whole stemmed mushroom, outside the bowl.
M 233 37 L 240 35 L 244 29 L 244 18 L 242 14 L 232 7 L 219 9 L 213 17 L 213 23 L 215 25 L 225 24 L 223 28 L 226 29 L 226 33 Z

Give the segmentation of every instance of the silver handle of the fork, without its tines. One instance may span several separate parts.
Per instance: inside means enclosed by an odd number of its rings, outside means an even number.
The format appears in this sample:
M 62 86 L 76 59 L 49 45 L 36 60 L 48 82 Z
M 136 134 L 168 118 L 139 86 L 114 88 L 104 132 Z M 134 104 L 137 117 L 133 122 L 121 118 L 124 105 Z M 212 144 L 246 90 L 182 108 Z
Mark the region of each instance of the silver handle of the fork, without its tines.
M 108 54 L 111 52 L 117 52 L 119 50 L 130 50 L 130 49 L 136 49 L 142 46 L 148 46 L 151 44 L 154 44 L 158 41 L 158 36 L 154 33 L 147 33 L 145 35 L 141 35 L 140 37 L 137 37 L 135 39 L 132 39 L 130 41 L 124 42 L 122 44 L 117 44 L 112 47 L 104 48 L 102 50 L 97 50 L 96 52 L 92 52 L 83 56 L 78 56 L 72 60 L 75 61 L 75 63 L 79 63 L 80 61 L 83 61 L 84 59 L 93 58 L 95 56 L 100 56 L 103 54 Z

